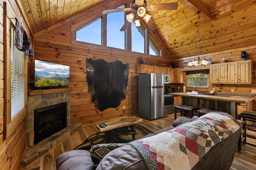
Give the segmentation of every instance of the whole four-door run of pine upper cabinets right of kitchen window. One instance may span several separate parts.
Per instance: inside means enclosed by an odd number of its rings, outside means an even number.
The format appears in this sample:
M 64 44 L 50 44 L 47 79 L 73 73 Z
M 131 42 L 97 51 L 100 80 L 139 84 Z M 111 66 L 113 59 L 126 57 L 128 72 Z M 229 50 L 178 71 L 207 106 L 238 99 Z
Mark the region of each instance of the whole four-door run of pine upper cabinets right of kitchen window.
M 211 82 L 214 84 L 250 84 L 251 61 L 237 61 L 210 65 Z

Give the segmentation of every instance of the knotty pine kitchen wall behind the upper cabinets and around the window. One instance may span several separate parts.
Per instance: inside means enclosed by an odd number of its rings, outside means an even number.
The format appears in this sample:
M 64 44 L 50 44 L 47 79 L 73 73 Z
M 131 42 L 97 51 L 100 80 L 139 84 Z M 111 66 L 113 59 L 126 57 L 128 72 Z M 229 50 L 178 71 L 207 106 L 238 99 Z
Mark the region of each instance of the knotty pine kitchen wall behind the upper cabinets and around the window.
M 249 47 L 242 47 L 238 49 L 232 49 L 217 53 L 210 53 L 206 54 L 206 58 L 212 58 L 213 64 L 221 63 L 221 60 L 223 57 L 228 59 L 228 62 L 232 61 L 241 61 L 244 59 L 241 59 L 241 51 L 246 51 L 249 54 L 248 59 L 252 61 L 252 84 L 209 84 L 209 88 L 196 88 L 197 91 L 210 91 L 212 88 L 215 88 L 216 92 L 222 92 L 222 93 L 232 93 L 231 89 L 234 89 L 234 94 L 252 94 L 251 89 L 256 89 L 256 45 L 249 46 Z M 192 58 L 192 57 L 190 57 Z M 183 62 L 188 63 L 190 58 L 184 58 L 184 59 L 176 59 L 174 60 L 175 63 L 178 64 L 178 67 L 183 66 Z M 211 75 L 209 75 L 211 76 Z M 186 77 L 185 77 L 186 78 Z M 185 79 L 186 80 L 186 79 Z M 185 84 L 174 84 L 175 88 L 180 87 L 180 89 L 183 89 L 183 86 L 187 86 Z M 186 90 L 192 90 L 193 88 L 187 87 Z M 256 111 L 256 94 L 252 94 L 254 97 L 253 100 L 253 111 Z

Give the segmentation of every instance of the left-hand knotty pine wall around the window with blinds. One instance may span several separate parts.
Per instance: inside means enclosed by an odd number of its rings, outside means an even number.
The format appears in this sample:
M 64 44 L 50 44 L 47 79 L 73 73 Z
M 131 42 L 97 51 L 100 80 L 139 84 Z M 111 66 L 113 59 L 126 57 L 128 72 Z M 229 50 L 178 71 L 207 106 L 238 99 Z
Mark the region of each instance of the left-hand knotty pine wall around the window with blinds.
M 20 17 L 20 10 L 15 0 L 7 0 L 7 20 L 17 17 L 21 21 L 24 29 L 30 35 L 28 25 L 24 22 L 24 18 Z M 4 122 L 4 2 L 0 0 L 0 169 L 14 169 L 17 170 L 21 165 L 21 158 L 26 149 L 26 118 L 18 123 L 16 127 L 12 128 L 12 133 L 5 139 L 4 129 L 6 123 Z M 12 21 L 15 25 L 15 20 Z M 7 30 L 7 33 L 10 30 Z M 8 33 L 8 36 L 10 33 Z M 30 39 L 33 41 L 32 37 Z M 9 57 L 9 56 L 7 56 Z M 28 60 L 31 65 L 33 60 Z

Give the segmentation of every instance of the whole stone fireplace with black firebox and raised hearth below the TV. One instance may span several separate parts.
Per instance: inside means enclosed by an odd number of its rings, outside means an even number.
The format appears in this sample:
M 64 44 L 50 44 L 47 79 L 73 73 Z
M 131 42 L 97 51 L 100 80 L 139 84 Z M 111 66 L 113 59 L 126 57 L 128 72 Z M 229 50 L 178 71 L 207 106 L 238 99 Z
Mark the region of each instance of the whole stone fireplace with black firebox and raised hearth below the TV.
M 42 91 L 43 94 L 38 94 Z M 49 152 L 51 149 L 56 147 L 56 145 L 62 143 L 65 139 L 67 139 L 70 135 L 75 133 L 81 128 L 81 123 L 70 124 L 70 92 L 69 89 L 56 89 L 54 93 L 44 94 L 44 90 L 36 90 L 34 94 L 29 94 L 28 97 L 28 115 L 27 115 L 27 149 L 23 154 L 22 165 L 27 167 L 32 162 Z M 46 90 L 47 91 L 47 90 Z M 53 90 L 49 90 L 52 92 Z M 49 92 L 48 91 L 48 92 Z M 55 106 L 60 106 L 65 103 L 66 105 L 66 113 L 63 115 L 62 108 L 54 108 Z M 47 111 L 44 112 L 44 108 L 53 108 L 54 110 L 50 112 L 54 112 L 52 115 L 48 114 Z M 38 112 L 42 112 L 43 115 L 40 117 L 46 116 L 47 120 L 42 119 L 42 122 L 39 123 L 38 127 L 34 126 L 35 119 L 38 119 Z M 58 114 L 62 113 L 62 114 Z M 36 114 L 36 116 L 35 116 Z M 52 119 L 52 120 L 50 120 Z M 63 121 L 66 127 L 56 128 L 53 135 L 45 135 L 44 140 L 36 141 L 36 145 L 34 145 L 35 133 L 34 128 L 38 129 L 49 129 L 50 124 L 57 123 L 59 121 Z M 52 126 L 51 126 L 52 127 Z M 64 129 L 63 129 L 64 128 Z M 38 130 L 35 129 L 35 130 Z M 52 128 L 54 129 L 54 128 Z M 48 137 L 50 136 L 50 137 Z

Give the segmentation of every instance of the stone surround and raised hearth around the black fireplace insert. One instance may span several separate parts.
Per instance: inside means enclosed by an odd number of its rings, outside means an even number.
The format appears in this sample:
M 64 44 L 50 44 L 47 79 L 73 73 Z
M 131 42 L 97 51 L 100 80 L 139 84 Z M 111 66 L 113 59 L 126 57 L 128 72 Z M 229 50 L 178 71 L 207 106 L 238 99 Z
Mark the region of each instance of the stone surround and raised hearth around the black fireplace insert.
M 67 102 L 67 127 L 40 141 L 34 145 L 34 109 L 51 106 Z M 53 94 L 42 94 L 28 97 L 28 115 L 27 115 L 27 149 L 22 157 L 22 165 L 28 166 L 50 149 L 56 147 L 70 135 L 81 129 L 82 123 L 70 125 L 70 92 L 60 92 Z

